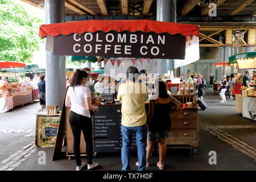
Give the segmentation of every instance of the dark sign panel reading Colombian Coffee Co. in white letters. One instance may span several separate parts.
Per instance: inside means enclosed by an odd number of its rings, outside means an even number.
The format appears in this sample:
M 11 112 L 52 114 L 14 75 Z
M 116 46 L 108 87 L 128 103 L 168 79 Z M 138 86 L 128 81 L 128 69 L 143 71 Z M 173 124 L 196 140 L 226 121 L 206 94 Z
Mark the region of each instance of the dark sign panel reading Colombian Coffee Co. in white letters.
M 47 37 L 53 55 L 184 59 L 186 37 L 155 32 L 85 32 Z

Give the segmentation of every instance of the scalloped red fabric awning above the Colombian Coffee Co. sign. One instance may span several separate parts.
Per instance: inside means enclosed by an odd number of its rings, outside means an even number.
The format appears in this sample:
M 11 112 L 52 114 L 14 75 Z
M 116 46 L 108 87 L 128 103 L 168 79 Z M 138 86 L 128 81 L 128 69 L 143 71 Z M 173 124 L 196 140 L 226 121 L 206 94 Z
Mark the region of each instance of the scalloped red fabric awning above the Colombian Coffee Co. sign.
M 80 22 L 67 22 L 55 24 L 42 24 L 39 36 L 45 38 L 47 35 L 70 35 L 84 32 L 109 32 L 109 31 L 143 31 L 156 32 L 157 34 L 168 33 L 171 35 L 181 34 L 183 36 L 199 36 L 199 27 L 193 24 L 158 22 L 155 20 L 84 20 Z

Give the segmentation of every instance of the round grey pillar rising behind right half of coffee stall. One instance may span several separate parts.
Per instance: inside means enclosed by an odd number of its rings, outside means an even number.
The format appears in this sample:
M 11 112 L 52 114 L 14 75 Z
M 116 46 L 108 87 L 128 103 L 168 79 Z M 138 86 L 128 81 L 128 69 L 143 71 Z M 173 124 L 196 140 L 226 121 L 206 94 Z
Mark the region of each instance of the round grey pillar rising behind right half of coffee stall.
M 156 20 L 161 22 L 176 23 L 176 0 L 157 0 Z M 167 73 L 168 70 L 174 71 L 174 60 L 156 60 L 156 73 L 158 73 L 159 75 L 164 75 L 164 73 Z

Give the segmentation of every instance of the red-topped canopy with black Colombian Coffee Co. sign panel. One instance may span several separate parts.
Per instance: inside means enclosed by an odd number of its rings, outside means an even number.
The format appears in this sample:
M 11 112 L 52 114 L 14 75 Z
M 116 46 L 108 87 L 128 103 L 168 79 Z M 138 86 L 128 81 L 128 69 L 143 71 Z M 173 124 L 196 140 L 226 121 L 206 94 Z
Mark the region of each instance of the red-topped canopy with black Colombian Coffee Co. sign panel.
M 43 24 L 53 55 L 185 59 L 186 37 L 199 36 L 192 24 L 155 20 L 85 20 Z

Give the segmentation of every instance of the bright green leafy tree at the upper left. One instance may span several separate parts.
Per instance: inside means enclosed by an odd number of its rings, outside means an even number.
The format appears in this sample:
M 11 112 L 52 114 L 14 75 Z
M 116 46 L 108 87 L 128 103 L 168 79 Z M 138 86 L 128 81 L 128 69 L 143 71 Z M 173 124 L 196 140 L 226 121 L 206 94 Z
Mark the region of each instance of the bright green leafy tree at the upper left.
M 31 63 L 42 41 L 38 31 L 43 21 L 11 0 L 0 2 L 0 60 Z

